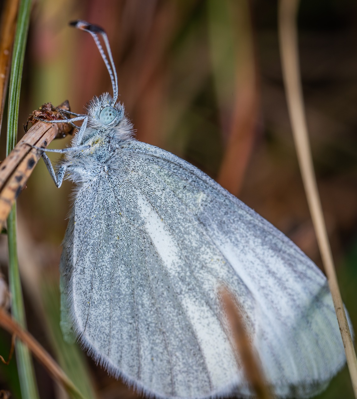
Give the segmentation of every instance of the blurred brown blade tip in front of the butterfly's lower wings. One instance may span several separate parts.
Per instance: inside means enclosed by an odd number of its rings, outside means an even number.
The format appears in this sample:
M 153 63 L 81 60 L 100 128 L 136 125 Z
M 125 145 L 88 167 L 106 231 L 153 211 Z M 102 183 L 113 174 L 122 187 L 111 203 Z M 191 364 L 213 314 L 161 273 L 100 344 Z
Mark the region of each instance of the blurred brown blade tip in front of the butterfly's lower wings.
M 233 334 L 235 350 L 237 350 L 239 355 L 237 357 L 238 361 L 243 367 L 249 385 L 254 389 L 258 399 L 271 399 L 272 394 L 266 385 L 266 380 L 260 367 L 260 359 L 254 351 L 243 317 L 233 299 L 233 295 L 227 288 L 222 287 L 219 297 Z

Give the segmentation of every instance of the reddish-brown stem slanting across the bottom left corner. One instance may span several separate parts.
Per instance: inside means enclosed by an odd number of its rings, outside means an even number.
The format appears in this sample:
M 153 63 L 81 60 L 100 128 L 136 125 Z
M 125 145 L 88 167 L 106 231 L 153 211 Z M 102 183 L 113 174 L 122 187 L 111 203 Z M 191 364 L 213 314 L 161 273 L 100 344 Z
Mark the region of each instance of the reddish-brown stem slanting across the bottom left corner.
M 0 309 L 0 326 L 10 334 L 15 334 L 24 344 L 28 346 L 36 358 L 46 367 L 53 379 L 61 384 L 67 393 L 71 393 L 78 398 L 83 396 L 72 381 L 63 372 L 61 367 L 51 358 L 51 356 L 42 348 L 42 346 L 35 340 L 35 338 L 12 320 L 11 316 L 3 309 Z

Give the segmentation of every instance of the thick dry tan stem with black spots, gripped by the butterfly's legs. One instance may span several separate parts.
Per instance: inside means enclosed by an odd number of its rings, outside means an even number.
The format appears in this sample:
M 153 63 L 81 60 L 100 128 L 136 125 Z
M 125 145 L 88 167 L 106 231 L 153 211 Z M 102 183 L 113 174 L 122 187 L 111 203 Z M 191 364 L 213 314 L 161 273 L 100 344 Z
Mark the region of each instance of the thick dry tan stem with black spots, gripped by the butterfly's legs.
M 69 104 L 66 101 L 58 108 L 69 110 Z M 34 111 L 33 117 L 47 120 L 63 118 L 59 112 L 52 110 L 49 104 L 43 105 L 39 111 Z M 54 138 L 64 137 L 73 131 L 73 126 L 68 123 L 49 124 L 33 119 L 32 122 L 34 122 L 32 128 L 16 144 L 0 166 L 0 230 L 5 224 L 12 204 L 41 158 L 41 152 L 28 144 L 46 148 Z

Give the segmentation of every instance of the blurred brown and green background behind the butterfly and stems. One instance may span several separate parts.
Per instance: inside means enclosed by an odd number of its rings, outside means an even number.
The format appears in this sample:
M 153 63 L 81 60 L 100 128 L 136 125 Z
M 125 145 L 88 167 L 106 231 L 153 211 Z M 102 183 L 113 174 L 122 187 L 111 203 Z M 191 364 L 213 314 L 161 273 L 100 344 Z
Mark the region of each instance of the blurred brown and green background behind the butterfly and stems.
M 290 237 L 319 267 L 316 237 L 292 140 L 277 33 L 277 2 L 262 0 L 37 0 L 26 50 L 19 138 L 28 115 L 68 99 L 74 112 L 110 79 L 93 39 L 105 28 L 120 101 L 138 140 L 185 158 Z M 300 64 L 308 127 L 342 297 L 357 328 L 357 2 L 302 0 Z M 7 115 L 7 111 L 5 111 Z M 0 138 L 5 154 L 6 122 Z M 69 142 L 56 140 L 52 147 Z M 53 162 L 58 159 L 51 155 Z M 88 398 L 138 396 L 65 344 L 58 264 L 71 184 L 57 189 L 40 160 L 18 199 L 18 251 L 28 329 Z M 7 274 L 6 237 L 0 268 Z M 0 331 L 0 354 L 10 337 Z M 41 398 L 65 398 L 35 360 Z M 0 389 L 21 398 L 15 358 Z M 139 395 L 140 396 L 140 395 Z M 319 398 L 352 398 L 347 369 Z

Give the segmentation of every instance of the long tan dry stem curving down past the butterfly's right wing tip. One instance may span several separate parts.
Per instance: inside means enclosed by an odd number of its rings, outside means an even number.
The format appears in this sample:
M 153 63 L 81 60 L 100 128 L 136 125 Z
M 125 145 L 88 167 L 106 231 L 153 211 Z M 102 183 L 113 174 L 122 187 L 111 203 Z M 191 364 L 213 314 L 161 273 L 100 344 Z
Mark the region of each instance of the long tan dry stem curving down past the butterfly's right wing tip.
M 308 128 L 304 113 L 296 28 L 298 4 L 298 0 L 280 0 L 279 5 L 279 42 L 284 84 L 306 197 L 308 199 L 323 265 L 329 282 L 343 345 L 345 347 L 347 365 L 351 375 L 353 390 L 355 397 L 357 398 L 357 358 L 353 348 L 353 342 L 349 331 L 341 293 L 339 291 L 331 248 L 329 246 L 325 221 L 323 219 L 323 212 L 318 194 L 308 139 Z

